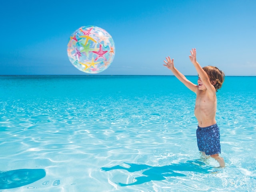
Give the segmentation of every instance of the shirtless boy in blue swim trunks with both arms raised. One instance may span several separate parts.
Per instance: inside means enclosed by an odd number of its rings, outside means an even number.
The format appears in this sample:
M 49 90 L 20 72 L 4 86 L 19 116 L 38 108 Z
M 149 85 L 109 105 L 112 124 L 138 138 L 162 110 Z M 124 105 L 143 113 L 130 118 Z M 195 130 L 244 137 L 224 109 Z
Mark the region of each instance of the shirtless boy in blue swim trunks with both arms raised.
M 187 88 L 196 93 L 196 106 L 194 114 L 198 120 L 196 130 L 198 149 L 202 154 L 210 155 L 217 160 L 220 167 L 225 167 L 224 159 L 220 154 L 220 132 L 216 124 L 216 92 L 221 88 L 224 81 L 224 72 L 217 67 L 206 66 L 202 68 L 196 61 L 196 49 L 190 51 L 190 61 L 194 64 L 198 72 L 198 85 L 190 82 L 182 73 L 174 67 L 174 59 L 166 57 L 164 61 L 168 69 L 178 78 Z

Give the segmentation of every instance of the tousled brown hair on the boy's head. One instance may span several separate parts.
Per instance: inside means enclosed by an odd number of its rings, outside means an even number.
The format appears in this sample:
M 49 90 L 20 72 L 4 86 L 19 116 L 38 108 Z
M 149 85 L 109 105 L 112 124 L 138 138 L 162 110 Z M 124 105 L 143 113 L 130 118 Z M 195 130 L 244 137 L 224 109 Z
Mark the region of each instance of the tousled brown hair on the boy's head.
M 205 66 L 203 67 L 203 70 L 207 73 L 210 82 L 215 87 L 216 91 L 220 89 L 225 78 L 224 72 L 214 66 Z

